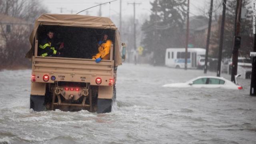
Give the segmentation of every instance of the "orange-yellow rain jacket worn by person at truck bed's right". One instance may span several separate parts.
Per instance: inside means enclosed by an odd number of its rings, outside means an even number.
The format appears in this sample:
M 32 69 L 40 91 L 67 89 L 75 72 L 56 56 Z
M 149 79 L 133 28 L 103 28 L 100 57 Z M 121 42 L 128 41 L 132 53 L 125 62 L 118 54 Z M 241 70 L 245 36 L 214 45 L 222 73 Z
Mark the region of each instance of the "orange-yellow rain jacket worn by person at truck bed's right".
M 92 59 L 95 60 L 97 58 L 102 58 L 102 60 L 109 60 L 110 59 L 110 47 L 111 47 L 112 41 L 106 40 L 105 43 L 102 43 L 98 48 L 98 54 L 95 56 L 92 56 Z

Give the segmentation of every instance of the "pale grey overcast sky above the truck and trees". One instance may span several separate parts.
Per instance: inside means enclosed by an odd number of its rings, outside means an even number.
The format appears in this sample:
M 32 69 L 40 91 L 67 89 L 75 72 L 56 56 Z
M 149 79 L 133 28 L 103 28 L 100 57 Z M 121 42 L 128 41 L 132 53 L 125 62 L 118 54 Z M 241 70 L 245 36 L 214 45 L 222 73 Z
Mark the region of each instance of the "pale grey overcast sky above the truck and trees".
M 44 4 L 51 13 L 60 13 L 60 8 L 62 9 L 62 13 L 71 14 L 71 12 L 76 13 L 86 8 L 90 8 L 100 3 L 109 2 L 112 0 L 42 0 L 42 4 Z M 136 5 L 136 17 L 141 14 L 150 14 L 150 2 L 154 0 L 122 0 L 122 16 L 133 16 L 133 5 L 128 4 L 132 2 L 141 3 L 140 5 Z M 192 15 L 200 14 L 200 10 L 198 8 L 203 8 L 210 0 L 190 0 L 190 12 Z M 91 8 L 88 10 L 88 14 L 91 16 L 98 16 L 99 6 Z M 120 12 L 120 0 L 112 2 L 110 5 L 105 4 L 102 6 L 102 16 L 109 17 L 113 15 L 117 15 Z M 86 12 L 82 12 L 80 14 L 86 14 Z

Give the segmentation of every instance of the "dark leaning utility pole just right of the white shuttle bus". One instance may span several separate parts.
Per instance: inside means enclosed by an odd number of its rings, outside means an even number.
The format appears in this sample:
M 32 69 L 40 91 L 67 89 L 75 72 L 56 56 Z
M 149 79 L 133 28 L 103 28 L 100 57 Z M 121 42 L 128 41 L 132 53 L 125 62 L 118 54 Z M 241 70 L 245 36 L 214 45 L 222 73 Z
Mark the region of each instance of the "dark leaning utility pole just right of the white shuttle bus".
M 208 24 L 208 32 L 207 32 L 207 40 L 206 40 L 206 51 L 205 51 L 205 62 L 204 62 L 204 73 L 207 73 L 207 63 L 208 63 L 208 51 L 210 44 L 210 34 L 211 34 L 211 26 L 212 26 L 212 5 L 213 0 L 211 0 L 210 11 L 209 11 L 209 24 Z

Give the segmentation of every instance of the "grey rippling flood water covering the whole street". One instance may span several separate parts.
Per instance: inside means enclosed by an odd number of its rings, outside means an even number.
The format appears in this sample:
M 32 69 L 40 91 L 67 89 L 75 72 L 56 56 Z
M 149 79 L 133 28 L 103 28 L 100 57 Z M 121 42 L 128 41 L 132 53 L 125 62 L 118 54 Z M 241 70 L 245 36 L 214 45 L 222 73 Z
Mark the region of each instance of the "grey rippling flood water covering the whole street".
M 0 144 L 255 144 L 250 80 L 238 79 L 243 90 L 162 87 L 202 75 L 202 70 L 123 64 L 112 112 L 96 114 L 34 112 L 31 70 L 1 71 Z

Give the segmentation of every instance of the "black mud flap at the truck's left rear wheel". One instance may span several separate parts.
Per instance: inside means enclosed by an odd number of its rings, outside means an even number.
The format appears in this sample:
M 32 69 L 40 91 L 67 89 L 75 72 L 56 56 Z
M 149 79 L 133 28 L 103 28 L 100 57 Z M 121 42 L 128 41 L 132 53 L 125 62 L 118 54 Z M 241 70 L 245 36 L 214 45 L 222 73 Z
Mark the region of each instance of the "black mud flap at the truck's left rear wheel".
M 30 108 L 37 112 L 46 110 L 44 106 L 44 96 L 30 95 Z

